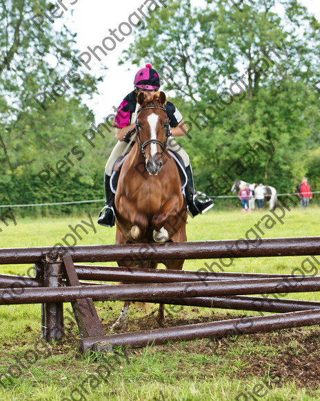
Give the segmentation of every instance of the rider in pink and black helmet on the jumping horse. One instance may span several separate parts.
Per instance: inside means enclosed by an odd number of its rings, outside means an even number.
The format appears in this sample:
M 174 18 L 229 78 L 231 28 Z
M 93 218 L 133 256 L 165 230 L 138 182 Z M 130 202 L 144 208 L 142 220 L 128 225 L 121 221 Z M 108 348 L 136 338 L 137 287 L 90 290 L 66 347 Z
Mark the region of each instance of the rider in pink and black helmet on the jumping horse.
M 146 64 L 145 68 L 141 68 L 134 77 L 134 91 L 129 93 L 121 102 L 117 115 L 114 118 L 114 127 L 117 127 L 116 136 L 119 140 L 110 154 L 110 158 L 105 167 L 104 174 L 104 186 L 106 192 L 106 206 L 103 207 L 99 213 L 98 223 L 105 225 L 106 227 L 112 227 L 114 225 L 114 194 L 110 189 L 110 176 L 114 163 L 117 161 L 119 156 L 124 156 L 131 149 L 130 144 L 123 141 L 123 136 L 134 129 L 135 120 L 137 118 L 137 110 L 139 104 L 137 104 L 137 95 L 140 92 L 146 92 L 148 95 L 152 95 L 159 90 L 160 79 L 159 74 L 152 68 L 152 64 Z M 170 119 L 170 134 L 173 137 L 183 136 L 187 133 L 188 129 L 184 124 L 182 115 L 178 109 L 171 102 L 167 102 L 166 111 L 168 118 Z M 190 159 L 188 153 L 184 151 L 181 146 L 175 142 L 173 138 L 168 140 L 168 149 L 177 153 L 186 167 L 186 175 L 188 177 L 188 183 L 186 185 L 186 202 L 188 205 L 189 212 L 192 216 L 197 216 L 199 213 L 205 213 L 213 206 L 213 202 L 201 192 L 194 190 L 192 169 L 190 165 Z M 206 201 L 201 201 L 200 196 L 204 196 Z

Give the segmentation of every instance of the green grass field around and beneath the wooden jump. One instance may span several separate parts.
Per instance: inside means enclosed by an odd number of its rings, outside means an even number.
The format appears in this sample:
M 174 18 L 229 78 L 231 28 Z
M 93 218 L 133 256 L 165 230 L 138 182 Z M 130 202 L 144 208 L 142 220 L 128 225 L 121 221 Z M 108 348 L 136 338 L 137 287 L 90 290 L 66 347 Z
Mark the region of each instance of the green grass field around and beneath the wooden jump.
M 263 238 L 319 235 L 320 208 L 303 212 L 294 208 L 278 214 L 279 218 L 267 209 L 246 215 L 240 209 L 212 210 L 189 221 L 188 241 L 241 239 L 246 234 L 254 238 L 254 232 L 261 231 Z M 53 246 L 63 238 L 72 245 L 67 234 L 78 224 L 86 227 L 87 234 L 78 230 L 81 239 L 77 238 L 77 245 L 114 243 L 115 230 L 99 227 L 94 210 L 92 215 L 93 225 L 88 215 L 39 220 L 17 217 L 17 225 L 8 221 L 8 227 L 0 221 L 0 246 Z M 234 259 L 226 271 L 290 274 L 301 268 L 304 259 Z M 186 261 L 183 268 L 198 270 L 211 262 Z M 29 267 L 6 265 L 1 272 L 26 274 Z M 320 301 L 317 292 L 286 298 Z M 106 333 L 110 333 L 121 304 L 96 303 Z M 66 337 L 48 345 L 41 343 L 39 305 L 1 306 L 1 400 L 320 400 L 318 326 L 118 349 L 104 357 L 77 352 L 79 333 L 70 309 L 70 304 L 65 304 Z M 152 304 L 130 306 L 128 331 L 157 328 L 156 312 L 157 306 Z M 167 308 L 166 326 L 254 315 L 257 313 L 174 307 Z

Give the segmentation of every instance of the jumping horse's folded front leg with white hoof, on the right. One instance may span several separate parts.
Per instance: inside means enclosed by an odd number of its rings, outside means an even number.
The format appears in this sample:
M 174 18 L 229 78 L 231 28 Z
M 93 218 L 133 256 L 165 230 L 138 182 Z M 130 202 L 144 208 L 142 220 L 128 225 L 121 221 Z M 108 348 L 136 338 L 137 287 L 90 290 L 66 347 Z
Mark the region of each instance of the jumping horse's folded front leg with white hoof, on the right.
M 187 221 L 187 209 L 179 196 L 172 196 L 152 218 L 153 239 L 166 242 L 177 234 Z

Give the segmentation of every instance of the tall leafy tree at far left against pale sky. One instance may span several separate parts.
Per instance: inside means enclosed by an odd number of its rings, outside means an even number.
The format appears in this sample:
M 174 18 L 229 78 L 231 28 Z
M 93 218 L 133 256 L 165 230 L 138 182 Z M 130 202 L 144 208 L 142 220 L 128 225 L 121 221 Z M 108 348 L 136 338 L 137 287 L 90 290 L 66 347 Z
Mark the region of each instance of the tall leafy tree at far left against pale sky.
M 79 107 L 83 94 L 90 96 L 97 80 L 77 72 L 74 35 L 64 25 L 60 32 L 54 30 L 41 12 L 50 7 L 46 0 L 0 1 L 0 126 L 6 147 L 0 157 L 6 174 L 36 162 L 35 155 L 45 145 L 38 138 L 45 136 L 46 122 L 56 119 L 59 124 L 63 118 L 68 120 L 70 115 L 66 113 L 73 113 L 76 124 L 86 124 L 87 118 L 92 117 L 88 109 L 82 109 L 80 114 L 74 113 L 72 107 Z M 43 21 L 41 17 L 34 18 L 36 15 L 42 15 Z M 63 98 L 67 102 L 72 98 L 75 103 L 65 109 Z M 54 129 L 47 131 L 46 140 L 54 135 Z

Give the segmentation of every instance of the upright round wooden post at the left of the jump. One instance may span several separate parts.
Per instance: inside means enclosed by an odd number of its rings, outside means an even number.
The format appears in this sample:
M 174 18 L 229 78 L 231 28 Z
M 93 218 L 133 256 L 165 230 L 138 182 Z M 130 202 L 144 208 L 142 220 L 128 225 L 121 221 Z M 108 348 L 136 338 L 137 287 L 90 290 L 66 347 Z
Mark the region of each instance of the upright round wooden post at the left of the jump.
M 58 252 L 48 252 L 43 255 L 43 286 L 62 286 L 62 258 Z M 42 337 L 47 342 L 61 339 L 64 335 L 63 303 L 50 302 L 41 309 Z

